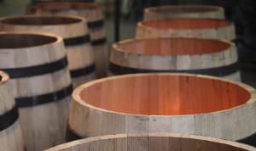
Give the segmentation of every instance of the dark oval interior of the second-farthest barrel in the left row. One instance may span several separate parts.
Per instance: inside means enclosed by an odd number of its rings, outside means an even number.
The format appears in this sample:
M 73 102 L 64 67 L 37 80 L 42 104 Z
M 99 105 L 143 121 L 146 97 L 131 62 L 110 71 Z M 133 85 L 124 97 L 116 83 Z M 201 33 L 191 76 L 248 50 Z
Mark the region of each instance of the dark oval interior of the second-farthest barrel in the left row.
M 1 22 L 9 25 L 68 25 L 81 21 L 78 18 L 62 16 L 22 16 L 7 18 Z

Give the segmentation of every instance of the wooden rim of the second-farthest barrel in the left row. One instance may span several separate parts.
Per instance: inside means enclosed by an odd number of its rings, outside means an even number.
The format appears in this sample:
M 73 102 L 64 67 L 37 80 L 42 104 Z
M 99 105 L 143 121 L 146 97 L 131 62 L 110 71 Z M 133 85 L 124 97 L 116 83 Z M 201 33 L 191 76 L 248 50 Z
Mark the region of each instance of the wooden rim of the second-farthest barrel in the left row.
M 5 21 L 8 20 L 17 20 L 17 19 L 47 19 L 47 18 L 53 18 L 53 19 L 67 19 L 67 20 L 75 20 L 72 23 L 67 23 L 67 24 L 63 24 L 63 23 L 57 23 L 57 24 L 44 24 L 44 25 L 40 25 L 40 24 L 15 24 L 15 23 L 7 23 Z M 87 20 L 83 17 L 77 16 L 77 15 L 61 15 L 61 14 L 21 14 L 21 15 L 13 15 L 10 17 L 4 17 L 0 19 L 0 24 L 2 25 L 12 25 L 12 26 L 44 26 L 44 27 L 53 27 L 53 26 L 69 26 L 69 25 L 79 25 L 79 24 L 83 24 L 84 26 L 87 25 Z

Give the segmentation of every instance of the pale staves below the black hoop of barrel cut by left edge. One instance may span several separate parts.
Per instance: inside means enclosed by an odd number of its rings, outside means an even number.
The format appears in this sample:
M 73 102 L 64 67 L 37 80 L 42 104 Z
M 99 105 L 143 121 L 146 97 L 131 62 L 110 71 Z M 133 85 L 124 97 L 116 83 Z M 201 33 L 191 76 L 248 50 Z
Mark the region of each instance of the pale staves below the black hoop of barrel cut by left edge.
M 20 129 L 20 122 L 17 120 L 8 129 L 0 131 L 0 148 L 4 151 L 25 151 L 25 145 Z

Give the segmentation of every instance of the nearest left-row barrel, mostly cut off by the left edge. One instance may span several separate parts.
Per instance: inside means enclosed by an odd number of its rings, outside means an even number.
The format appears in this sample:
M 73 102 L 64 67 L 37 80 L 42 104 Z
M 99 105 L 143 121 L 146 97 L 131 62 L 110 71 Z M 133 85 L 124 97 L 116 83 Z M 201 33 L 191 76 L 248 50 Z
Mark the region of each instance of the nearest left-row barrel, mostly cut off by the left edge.
M 4 151 L 25 151 L 19 113 L 10 90 L 9 76 L 0 71 L 0 146 Z

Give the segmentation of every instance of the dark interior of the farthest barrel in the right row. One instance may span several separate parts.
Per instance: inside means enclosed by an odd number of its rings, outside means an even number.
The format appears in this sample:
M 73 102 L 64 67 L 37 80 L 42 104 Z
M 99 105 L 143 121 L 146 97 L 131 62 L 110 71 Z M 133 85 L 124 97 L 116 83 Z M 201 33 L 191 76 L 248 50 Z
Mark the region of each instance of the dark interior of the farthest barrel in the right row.
M 170 6 L 170 7 L 156 7 L 148 8 L 147 11 L 154 13 L 207 13 L 218 11 L 219 8 L 209 7 L 209 6 Z

